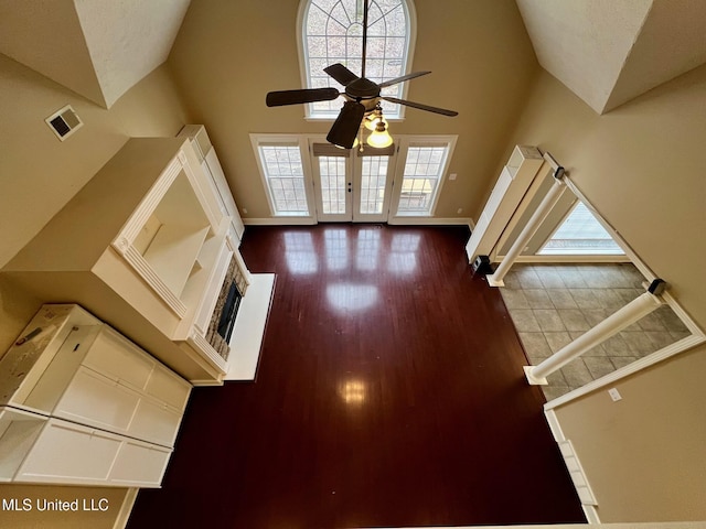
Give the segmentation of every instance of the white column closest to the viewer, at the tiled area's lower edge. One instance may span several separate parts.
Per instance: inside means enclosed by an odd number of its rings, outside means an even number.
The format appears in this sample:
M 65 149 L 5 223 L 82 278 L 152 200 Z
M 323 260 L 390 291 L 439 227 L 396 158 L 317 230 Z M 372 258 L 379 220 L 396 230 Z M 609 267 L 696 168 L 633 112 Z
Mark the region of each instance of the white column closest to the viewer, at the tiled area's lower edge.
M 533 386 L 546 385 L 547 376 L 557 371 L 573 359 L 578 358 L 591 347 L 597 346 L 623 328 L 629 327 L 641 317 L 650 314 L 663 303 L 659 294 L 654 293 L 660 292 L 663 284 L 664 281 L 660 279 L 654 280 L 648 292 L 632 300 L 618 312 L 608 316 L 549 358 L 536 366 L 525 366 L 524 369 L 527 381 Z

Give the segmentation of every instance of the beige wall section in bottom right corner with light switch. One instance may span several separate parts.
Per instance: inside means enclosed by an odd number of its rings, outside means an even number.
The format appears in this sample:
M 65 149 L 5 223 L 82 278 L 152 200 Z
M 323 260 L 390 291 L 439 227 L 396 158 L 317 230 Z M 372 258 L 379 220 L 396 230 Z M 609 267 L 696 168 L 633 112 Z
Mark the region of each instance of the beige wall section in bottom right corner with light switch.
M 601 521 L 706 520 L 706 347 L 557 409 Z

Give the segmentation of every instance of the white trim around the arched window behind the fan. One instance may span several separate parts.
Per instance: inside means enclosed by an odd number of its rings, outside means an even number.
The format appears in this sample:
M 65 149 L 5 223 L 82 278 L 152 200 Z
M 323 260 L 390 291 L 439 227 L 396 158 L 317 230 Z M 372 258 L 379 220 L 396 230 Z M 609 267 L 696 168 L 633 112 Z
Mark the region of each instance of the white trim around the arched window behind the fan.
M 309 61 L 308 56 L 304 53 L 304 22 L 307 20 L 307 14 L 309 13 L 309 6 L 311 0 L 300 0 L 299 9 L 297 10 L 297 26 L 295 33 L 297 34 L 297 53 L 299 54 L 299 75 L 301 77 L 301 86 L 302 88 L 310 88 L 309 86 L 309 76 L 307 75 L 309 71 Z M 411 63 L 415 56 L 415 44 L 417 42 L 417 10 L 415 8 L 414 0 L 404 0 L 403 7 L 407 13 L 407 22 L 408 22 L 408 33 L 407 33 L 407 57 L 405 60 L 405 68 L 403 71 L 403 75 L 411 72 Z M 402 93 L 399 94 L 400 99 L 407 98 L 407 93 L 409 91 L 409 83 L 402 84 Z M 311 105 L 304 104 L 304 120 L 307 121 L 334 121 L 334 117 L 330 116 L 312 116 L 311 115 Z M 399 115 L 395 117 L 385 117 L 389 122 L 395 121 L 404 121 L 405 119 L 405 105 L 399 105 Z

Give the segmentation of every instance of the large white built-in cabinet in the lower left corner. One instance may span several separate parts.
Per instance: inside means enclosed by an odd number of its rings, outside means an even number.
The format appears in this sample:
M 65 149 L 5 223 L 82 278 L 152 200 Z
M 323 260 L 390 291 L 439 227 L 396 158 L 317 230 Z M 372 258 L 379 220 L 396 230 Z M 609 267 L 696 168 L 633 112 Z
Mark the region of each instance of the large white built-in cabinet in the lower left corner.
M 0 481 L 158 487 L 191 385 L 77 305 L 22 336 L 0 360 Z

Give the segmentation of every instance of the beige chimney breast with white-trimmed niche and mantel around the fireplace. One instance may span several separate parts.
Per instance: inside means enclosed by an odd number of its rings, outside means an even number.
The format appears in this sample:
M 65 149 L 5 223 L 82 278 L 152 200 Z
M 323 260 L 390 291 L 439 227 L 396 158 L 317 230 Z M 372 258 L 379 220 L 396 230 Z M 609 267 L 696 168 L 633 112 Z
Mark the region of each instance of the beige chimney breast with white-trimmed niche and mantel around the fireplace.
M 221 384 L 227 360 L 206 332 L 229 263 L 246 288 L 252 276 L 202 161 L 189 138 L 130 139 L 3 273 L 83 305 L 192 384 Z

